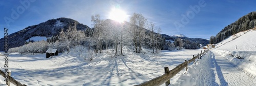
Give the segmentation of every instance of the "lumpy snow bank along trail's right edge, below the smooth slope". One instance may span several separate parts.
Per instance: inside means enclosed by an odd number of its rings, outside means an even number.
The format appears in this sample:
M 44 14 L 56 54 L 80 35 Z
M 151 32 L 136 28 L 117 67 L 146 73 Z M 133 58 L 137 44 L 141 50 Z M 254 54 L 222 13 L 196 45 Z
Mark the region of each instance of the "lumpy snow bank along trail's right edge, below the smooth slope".
M 215 51 L 228 59 L 234 66 L 238 67 L 239 70 L 245 72 L 251 78 L 256 78 L 256 51 Z

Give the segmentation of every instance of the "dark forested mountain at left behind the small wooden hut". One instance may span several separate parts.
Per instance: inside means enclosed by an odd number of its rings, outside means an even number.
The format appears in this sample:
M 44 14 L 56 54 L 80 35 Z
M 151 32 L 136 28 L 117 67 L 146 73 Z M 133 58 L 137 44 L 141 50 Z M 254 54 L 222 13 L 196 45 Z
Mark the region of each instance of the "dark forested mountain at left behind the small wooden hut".
M 61 29 L 66 31 L 69 27 L 76 25 L 77 30 L 90 29 L 87 25 L 78 23 L 74 19 L 70 18 L 57 18 L 50 19 L 47 22 L 40 23 L 38 25 L 29 26 L 23 30 L 8 35 L 9 48 L 19 47 L 25 45 L 26 40 L 34 36 L 52 37 L 59 34 Z M 4 38 L 0 39 L 0 45 L 4 45 Z M 4 47 L 0 47 L 0 51 L 3 51 Z

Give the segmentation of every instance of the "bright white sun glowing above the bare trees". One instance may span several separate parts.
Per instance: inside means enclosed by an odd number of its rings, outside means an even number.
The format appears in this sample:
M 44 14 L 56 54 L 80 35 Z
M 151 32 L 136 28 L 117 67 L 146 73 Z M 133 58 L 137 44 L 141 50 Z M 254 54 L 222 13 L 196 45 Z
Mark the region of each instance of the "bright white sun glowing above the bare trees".
M 112 9 L 109 15 L 110 19 L 116 20 L 119 23 L 123 22 L 126 19 L 126 17 L 126 13 L 121 9 Z

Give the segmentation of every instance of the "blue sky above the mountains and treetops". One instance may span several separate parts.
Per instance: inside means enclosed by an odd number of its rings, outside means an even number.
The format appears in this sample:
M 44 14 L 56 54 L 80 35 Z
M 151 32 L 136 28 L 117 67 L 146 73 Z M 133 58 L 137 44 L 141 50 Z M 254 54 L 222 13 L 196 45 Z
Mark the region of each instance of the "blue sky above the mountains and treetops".
M 163 34 L 209 38 L 240 17 L 256 11 L 255 4 L 254 0 L 0 0 L 0 32 L 3 33 L 0 37 L 4 37 L 4 27 L 10 34 L 59 17 L 93 27 L 92 15 L 100 14 L 102 19 L 107 19 L 111 9 L 119 7 L 129 16 L 134 12 L 142 14 L 160 27 Z M 195 8 L 195 11 L 191 7 L 200 9 Z M 14 16 L 14 12 L 18 16 Z M 177 28 L 177 24 L 182 27 Z

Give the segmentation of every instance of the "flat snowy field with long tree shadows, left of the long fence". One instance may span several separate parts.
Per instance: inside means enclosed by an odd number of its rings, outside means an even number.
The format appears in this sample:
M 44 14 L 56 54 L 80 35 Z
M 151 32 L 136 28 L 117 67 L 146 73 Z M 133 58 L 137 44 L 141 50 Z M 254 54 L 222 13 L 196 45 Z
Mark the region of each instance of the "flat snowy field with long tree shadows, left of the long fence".
M 12 77 L 27 85 L 136 85 L 162 75 L 164 65 L 173 69 L 200 52 L 161 51 L 161 54 L 153 56 L 126 51 L 128 56 L 103 56 L 94 62 L 84 62 L 78 52 L 48 59 L 45 54 L 24 56 L 13 53 L 9 55 L 8 64 Z M 0 64 L 3 70 L 4 59 L 0 59 Z M 171 83 L 175 83 L 184 72 L 185 69 L 172 78 Z M 5 83 L 3 77 L 0 77 L 0 82 L 2 85 Z

